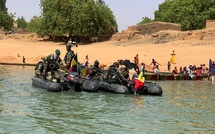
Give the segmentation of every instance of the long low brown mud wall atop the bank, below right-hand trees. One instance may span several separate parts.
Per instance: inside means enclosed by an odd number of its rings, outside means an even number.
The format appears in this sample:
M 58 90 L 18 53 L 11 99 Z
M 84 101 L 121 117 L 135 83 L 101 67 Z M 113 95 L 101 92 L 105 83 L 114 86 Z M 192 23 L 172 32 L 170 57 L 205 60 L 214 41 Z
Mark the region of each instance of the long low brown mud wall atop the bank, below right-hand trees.
M 181 25 L 175 23 L 152 22 L 148 24 L 128 27 L 129 31 L 139 31 L 143 35 L 152 34 L 161 30 L 181 31 Z

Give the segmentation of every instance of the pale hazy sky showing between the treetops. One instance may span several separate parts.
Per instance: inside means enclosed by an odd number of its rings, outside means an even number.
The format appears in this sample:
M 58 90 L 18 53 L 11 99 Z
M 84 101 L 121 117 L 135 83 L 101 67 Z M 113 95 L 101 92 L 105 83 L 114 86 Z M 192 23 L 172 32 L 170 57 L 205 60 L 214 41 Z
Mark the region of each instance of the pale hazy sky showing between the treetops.
M 119 31 L 136 25 L 143 17 L 154 19 L 154 11 L 165 0 L 104 0 L 113 11 Z M 16 13 L 17 17 L 24 17 L 30 21 L 33 16 L 39 16 L 40 0 L 7 0 L 9 13 Z

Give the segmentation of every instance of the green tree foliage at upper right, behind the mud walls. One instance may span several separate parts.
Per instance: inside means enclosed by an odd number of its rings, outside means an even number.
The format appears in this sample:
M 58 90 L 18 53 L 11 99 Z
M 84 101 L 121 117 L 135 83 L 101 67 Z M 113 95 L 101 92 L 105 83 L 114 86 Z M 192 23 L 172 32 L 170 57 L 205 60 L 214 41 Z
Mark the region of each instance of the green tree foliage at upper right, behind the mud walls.
M 215 19 L 214 0 L 166 0 L 155 11 L 155 20 L 179 23 L 182 30 L 202 29 L 207 19 Z

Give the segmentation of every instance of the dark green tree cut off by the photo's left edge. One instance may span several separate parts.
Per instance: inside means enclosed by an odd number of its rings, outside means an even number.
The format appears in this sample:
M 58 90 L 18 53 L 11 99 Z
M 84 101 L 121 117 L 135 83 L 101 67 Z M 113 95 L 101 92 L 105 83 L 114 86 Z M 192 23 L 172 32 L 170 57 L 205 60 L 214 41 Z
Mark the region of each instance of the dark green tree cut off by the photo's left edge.
M 0 29 L 11 30 L 13 27 L 13 15 L 7 13 L 6 0 L 0 0 Z

